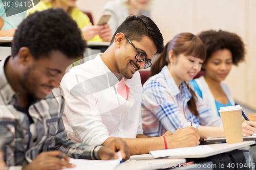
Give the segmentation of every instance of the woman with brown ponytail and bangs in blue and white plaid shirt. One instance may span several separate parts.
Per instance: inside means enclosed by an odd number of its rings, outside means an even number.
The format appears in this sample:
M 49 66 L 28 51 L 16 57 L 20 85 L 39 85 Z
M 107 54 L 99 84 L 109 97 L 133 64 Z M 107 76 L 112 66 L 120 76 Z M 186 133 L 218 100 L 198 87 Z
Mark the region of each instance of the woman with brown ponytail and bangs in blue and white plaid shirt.
M 164 52 L 152 65 L 153 77 L 143 85 L 142 118 L 146 135 L 159 136 L 191 126 L 194 113 L 193 127 L 199 130 L 201 138 L 225 136 L 221 118 L 212 113 L 187 83 L 201 70 L 205 58 L 203 42 L 190 33 L 178 34 L 165 45 Z M 243 136 L 254 134 L 255 127 L 254 122 L 244 122 Z

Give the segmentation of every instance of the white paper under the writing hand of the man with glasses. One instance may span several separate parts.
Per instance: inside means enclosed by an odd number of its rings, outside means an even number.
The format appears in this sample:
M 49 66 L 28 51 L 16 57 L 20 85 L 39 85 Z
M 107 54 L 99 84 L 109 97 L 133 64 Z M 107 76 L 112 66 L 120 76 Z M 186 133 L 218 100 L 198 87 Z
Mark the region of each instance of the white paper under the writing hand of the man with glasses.
M 199 145 L 197 147 L 187 147 L 187 148 L 177 148 L 177 149 L 168 149 L 168 150 L 159 150 L 159 151 L 150 151 L 150 154 L 154 158 L 161 158 L 166 156 L 184 156 L 184 155 L 191 155 L 191 154 L 199 154 L 199 153 L 207 153 L 207 152 L 214 152 L 214 149 L 208 146 Z

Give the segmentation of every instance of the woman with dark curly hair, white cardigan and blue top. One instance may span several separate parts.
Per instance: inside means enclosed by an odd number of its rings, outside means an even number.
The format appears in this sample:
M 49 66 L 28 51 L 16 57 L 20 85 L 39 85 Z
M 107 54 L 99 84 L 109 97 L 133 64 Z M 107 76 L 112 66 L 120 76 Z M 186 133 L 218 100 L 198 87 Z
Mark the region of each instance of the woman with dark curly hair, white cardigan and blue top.
M 220 116 L 220 107 L 233 106 L 234 100 L 228 86 L 223 82 L 232 65 L 244 61 L 244 43 L 237 34 L 226 31 L 204 31 L 199 38 L 206 47 L 206 59 L 202 65 L 204 76 L 189 83 L 194 86 L 210 109 Z M 256 114 L 249 114 L 249 120 L 256 120 Z

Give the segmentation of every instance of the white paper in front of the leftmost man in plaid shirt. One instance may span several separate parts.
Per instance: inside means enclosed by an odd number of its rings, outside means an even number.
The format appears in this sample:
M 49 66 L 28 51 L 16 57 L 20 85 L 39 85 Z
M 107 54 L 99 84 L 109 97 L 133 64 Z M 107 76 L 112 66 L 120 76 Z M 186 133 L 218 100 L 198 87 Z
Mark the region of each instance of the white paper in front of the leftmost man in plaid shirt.
M 113 160 L 88 160 L 88 159 L 73 159 L 69 163 L 75 164 L 74 168 L 67 168 L 67 170 L 113 170 L 120 164 L 122 160 L 121 152 L 118 151 L 119 158 Z

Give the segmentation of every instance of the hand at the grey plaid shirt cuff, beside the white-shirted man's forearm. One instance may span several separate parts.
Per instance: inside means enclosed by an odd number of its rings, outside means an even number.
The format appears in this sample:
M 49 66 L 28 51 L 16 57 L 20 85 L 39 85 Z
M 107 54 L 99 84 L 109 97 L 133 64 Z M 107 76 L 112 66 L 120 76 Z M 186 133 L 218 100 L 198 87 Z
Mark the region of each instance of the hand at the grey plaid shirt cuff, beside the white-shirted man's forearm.
M 117 159 L 117 151 L 121 151 L 123 160 L 130 158 L 130 149 L 125 141 L 121 138 L 115 138 L 108 142 L 104 147 L 101 147 L 98 151 L 99 158 L 102 160 Z

